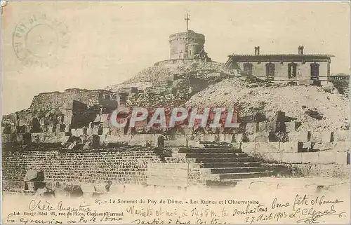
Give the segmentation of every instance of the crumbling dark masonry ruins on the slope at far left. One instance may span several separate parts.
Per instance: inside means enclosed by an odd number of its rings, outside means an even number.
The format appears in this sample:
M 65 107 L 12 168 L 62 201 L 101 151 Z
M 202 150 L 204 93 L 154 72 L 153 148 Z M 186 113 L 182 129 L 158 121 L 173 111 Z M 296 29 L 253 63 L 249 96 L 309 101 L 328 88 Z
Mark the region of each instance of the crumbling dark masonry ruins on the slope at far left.
M 104 95 L 116 99 L 104 99 Z M 88 125 L 100 113 L 100 107 L 103 108 L 102 113 L 106 114 L 115 109 L 118 103 L 119 96 L 108 90 L 75 88 L 67 89 L 63 93 L 41 93 L 34 97 L 29 109 L 3 116 L 1 121 L 3 142 L 10 142 L 9 134 L 15 136 L 38 132 L 69 132 L 77 119 L 83 124 L 85 122 L 81 119 L 86 120 Z

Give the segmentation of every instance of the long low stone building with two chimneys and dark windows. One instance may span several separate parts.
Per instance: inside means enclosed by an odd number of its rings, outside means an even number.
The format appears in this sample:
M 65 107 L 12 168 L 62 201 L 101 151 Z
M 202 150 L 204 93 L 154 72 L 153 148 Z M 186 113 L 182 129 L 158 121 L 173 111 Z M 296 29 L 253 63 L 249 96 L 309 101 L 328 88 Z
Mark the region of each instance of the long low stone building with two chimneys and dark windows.
M 237 69 L 246 75 L 270 81 L 298 81 L 305 84 L 330 81 L 333 55 L 304 54 L 303 48 L 298 47 L 298 54 L 260 55 L 260 47 L 255 47 L 254 55 L 229 55 L 225 68 Z

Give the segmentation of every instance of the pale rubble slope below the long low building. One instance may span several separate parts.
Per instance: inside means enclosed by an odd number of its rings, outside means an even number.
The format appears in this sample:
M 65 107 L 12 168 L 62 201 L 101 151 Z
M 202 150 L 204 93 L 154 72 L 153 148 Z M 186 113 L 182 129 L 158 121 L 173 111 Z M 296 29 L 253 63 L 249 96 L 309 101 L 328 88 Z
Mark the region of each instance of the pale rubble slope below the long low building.
M 237 78 L 226 79 L 193 95 L 189 106 L 233 107 L 239 105 L 239 116 L 260 113 L 274 121 L 277 111 L 296 118 L 298 130 L 349 130 L 350 103 L 343 95 L 327 93 L 317 86 L 267 85 L 247 83 Z

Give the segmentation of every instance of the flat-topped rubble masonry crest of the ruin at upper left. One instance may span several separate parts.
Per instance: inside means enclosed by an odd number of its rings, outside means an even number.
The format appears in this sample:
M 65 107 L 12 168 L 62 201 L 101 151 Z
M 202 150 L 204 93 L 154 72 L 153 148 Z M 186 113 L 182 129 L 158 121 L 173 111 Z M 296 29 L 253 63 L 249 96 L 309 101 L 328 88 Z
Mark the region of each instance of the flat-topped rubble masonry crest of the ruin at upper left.
M 79 88 L 67 89 L 60 93 L 41 93 L 34 96 L 30 109 L 50 109 L 62 107 L 73 100 L 83 102 L 84 104 L 98 104 L 100 95 L 112 94 L 109 90 L 86 90 Z

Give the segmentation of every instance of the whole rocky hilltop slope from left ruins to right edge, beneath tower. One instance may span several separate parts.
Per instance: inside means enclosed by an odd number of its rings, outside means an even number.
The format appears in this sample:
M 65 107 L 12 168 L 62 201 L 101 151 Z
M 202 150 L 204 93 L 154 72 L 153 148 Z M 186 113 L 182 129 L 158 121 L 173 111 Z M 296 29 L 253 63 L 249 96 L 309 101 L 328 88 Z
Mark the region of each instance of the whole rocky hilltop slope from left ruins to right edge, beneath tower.
M 64 93 L 38 95 L 34 97 L 29 110 L 4 116 L 2 127 L 7 133 L 18 130 L 16 125 L 23 128 L 23 132 L 63 131 L 62 113 L 58 112 L 58 108 L 65 102 L 76 100 L 88 104 L 87 115 L 81 117 L 90 119 L 92 115 L 106 113 L 105 110 L 100 111 L 101 106 L 115 109 L 114 105 L 110 107 L 111 102 L 117 101 L 110 100 L 114 92 L 137 86 L 137 91 L 129 93 L 126 106 L 230 107 L 235 104 L 239 106 L 241 118 L 259 113 L 265 116 L 265 120 L 273 121 L 277 111 L 283 111 L 286 116 L 301 122 L 300 130 L 350 129 L 348 95 L 338 93 L 338 87 L 334 87 L 333 83 L 324 87 L 291 85 L 239 76 L 234 71 L 224 70 L 223 64 L 218 62 L 174 63 L 168 60 L 143 69 L 133 79 L 107 87 L 107 90 L 72 89 Z M 109 96 L 108 100 L 103 98 L 104 95 Z M 40 129 L 29 125 L 34 123 L 34 117 Z

